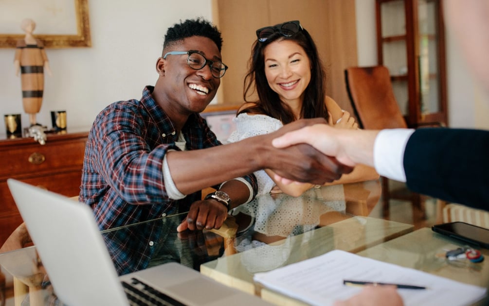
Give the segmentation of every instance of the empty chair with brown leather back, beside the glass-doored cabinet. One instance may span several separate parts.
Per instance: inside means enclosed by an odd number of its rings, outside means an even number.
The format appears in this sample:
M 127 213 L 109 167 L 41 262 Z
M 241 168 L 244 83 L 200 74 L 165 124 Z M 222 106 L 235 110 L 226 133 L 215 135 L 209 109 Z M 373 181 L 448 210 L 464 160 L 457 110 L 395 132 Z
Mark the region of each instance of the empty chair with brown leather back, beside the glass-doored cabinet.
M 399 104 L 394 96 L 389 70 L 384 66 L 350 67 L 345 69 L 345 82 L 348 96 L 360 128 L 385 129 L 407 128 Z M 423 124 L 424 125 L 424 124 Z M 426 125 L 440 125 L 428 123 Z M 404 185 L 397 189 L 389 188 L 389 180 L 381 177 L 382 213 L 389 217 L 390 199 L 410 201 L 415 210 L 425 217 L 422 195 L 409 191 Z

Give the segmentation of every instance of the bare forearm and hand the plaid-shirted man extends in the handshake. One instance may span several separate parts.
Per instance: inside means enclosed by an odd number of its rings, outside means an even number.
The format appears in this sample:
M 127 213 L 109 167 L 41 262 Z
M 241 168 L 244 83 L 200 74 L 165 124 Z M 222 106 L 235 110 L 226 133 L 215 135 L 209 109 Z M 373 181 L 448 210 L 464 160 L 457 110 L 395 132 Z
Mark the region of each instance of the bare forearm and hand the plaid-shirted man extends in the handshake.
M 324 123 L 324 119 L 298 120 L 270 134 L 237 143 L 185 151 L 168 152 L 167 161 L 180 192 L 187 194 L 204 187 L 241 177 L 260 169 L 270 169 L 297 182 L 324 184 L 333 182 L 352 167 L 325 156 L 307 144 L 276 148 L 272 140 L 304 126 Z

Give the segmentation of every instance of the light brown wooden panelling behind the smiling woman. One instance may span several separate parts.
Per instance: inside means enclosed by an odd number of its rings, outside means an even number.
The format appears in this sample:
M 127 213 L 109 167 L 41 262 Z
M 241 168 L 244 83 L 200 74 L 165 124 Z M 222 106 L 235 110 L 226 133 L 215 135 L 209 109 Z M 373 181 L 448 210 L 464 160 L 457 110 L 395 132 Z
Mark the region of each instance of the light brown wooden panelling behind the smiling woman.
M 353 114 L 345 90 L 344 68 L 357 65 L 355 0 L 213 0 L 214 23 L 224 44 L 222 60 L 231 68 L 222 79 L 220 103 L 243 103 L 243 81 L 256 40 L 256 30 L 287 20 L 300 20 L 311 36 L 328 74 L 326 94 Z M 251 93 L 250 100 L 256 98 Z

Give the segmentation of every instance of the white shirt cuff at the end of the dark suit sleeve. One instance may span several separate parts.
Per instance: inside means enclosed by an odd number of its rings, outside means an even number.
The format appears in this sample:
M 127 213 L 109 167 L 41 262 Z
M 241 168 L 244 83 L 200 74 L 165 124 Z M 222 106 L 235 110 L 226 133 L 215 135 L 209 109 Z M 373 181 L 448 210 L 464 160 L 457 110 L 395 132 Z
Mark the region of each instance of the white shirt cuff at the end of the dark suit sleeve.
M 406 182 L 404 150 L 414 129 L 381 130 L 374 143 L 374 165 L 378 174 L 399 182 Z

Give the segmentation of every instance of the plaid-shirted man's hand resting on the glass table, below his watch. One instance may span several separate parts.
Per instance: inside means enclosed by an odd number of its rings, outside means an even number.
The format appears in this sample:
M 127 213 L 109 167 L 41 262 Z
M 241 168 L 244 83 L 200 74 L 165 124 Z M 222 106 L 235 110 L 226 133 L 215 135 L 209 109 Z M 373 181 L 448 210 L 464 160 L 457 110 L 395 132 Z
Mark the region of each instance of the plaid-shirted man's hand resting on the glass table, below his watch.
M 213 199 L 196 201 L 190 206 L 187 217 L 177 231 L 220 228 L 227 218 L 227 207 Z

